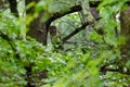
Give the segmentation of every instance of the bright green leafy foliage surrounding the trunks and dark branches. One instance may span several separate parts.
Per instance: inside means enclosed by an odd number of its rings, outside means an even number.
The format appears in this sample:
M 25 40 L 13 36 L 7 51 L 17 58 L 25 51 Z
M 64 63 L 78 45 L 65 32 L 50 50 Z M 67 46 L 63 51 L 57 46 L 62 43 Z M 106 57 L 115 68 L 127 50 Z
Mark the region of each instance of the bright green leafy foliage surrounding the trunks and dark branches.
M 119 46 L 125 40 L 120 39 L 120 23 L 119 18 L 115 17 L 126 8 L 125 0 L 103 0 L 99 5 L 102 18 L 67 40 L 64 50 L 54 51 L 51 42 L 42 46 L 27 35 L 28 28 L 25 25 L 29 25 L 39 16 L 39 12 L 44 12 L 42 17 L 44 22 L 55 12 L 63 14 L 68 11 L 78 1 L 31 2 L 27 9 L 35 7 L 35 14 L 27 15 L 27 21 L 23 0 L 18 3 L 20 14 L 23 14 L 21 17 L 15 17 L 9 10 L 0 13 L 0 87 L 25 87 L 28 83 L 27 67 L 32 69 L 30 82 L 36 87 L 129 86 L 130 62 L 127 62 L 126 66 L 119 62 L 121 59 Z M 81 17 L 78 13 L 68 14 L 54 21 L 52 25 L 57 27 L 63 38 L 82 25 Z M 99 34 L 99 27 L 102 27 L 103 34 Z M 104 66 L 109 71 L 104 70 Z M 122 71 L 116 71 L 120 67 Z

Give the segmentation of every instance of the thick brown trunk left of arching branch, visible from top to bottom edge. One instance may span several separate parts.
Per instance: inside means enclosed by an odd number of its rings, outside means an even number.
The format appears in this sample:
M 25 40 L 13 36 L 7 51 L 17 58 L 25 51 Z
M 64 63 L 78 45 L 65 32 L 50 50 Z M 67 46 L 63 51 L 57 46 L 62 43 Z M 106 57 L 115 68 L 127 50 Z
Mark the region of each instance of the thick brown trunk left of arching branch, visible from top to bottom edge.
M 36 3 L 39 1 L 39 0 L 26 0 L 26 5 L 28 3 L 30 3 L 31 1 L 35 1 Z M 32 15 L 35 14 L 35 7 L 26 10 L 26 14 L 28 15 Z M 42 22 L 41 23 L 41 18 L 43 16 L 43 12 L 40 12 L 39 13 L 39 16 L 36 17 L 32 22 L 30 22 L 30 24 L 27 26 L 27 28 L 29 29 L 27 35 L 35 38 L 37 41 L 41 42 L 42 45 L 47 45 L 47 39 L 48 39 L 48 27 L 47 27 L 47 24 L 46 22 Z M 32 78 L 30 77 L 32 75 L 32 65 L 30 64 L 29 66 L 26 66 L 26 80 L 27 80 L 27 85 L 26 87 L 36 87 L 34 82 L 32 82 Z M 43 76 L 47 77 L 47 72 L 43 71 Z

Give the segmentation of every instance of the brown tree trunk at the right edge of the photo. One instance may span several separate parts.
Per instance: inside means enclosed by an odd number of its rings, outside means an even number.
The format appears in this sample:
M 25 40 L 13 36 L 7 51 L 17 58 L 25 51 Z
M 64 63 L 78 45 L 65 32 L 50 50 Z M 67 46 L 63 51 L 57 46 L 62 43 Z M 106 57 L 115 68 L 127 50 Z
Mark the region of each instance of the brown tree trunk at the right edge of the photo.
M 121 12 L 121 34 L 126 42 L 121 46 L 122 59 L 128 61 L 130 59 L 130 7 Z

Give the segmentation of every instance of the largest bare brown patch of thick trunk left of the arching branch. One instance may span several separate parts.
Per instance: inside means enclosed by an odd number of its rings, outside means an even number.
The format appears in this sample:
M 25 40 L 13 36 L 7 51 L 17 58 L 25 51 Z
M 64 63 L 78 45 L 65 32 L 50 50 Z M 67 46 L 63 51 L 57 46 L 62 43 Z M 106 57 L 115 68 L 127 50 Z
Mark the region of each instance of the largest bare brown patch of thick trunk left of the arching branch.
M 37 41 L 42 45 L 47 45 L 48 29 L 46 23 L 40 23 L 40 18 L 43 16 L 43 13 L 39 13 L 39 16 L 35 18 L 29 25 L 29 32 L 27 35 L 37 39 Z

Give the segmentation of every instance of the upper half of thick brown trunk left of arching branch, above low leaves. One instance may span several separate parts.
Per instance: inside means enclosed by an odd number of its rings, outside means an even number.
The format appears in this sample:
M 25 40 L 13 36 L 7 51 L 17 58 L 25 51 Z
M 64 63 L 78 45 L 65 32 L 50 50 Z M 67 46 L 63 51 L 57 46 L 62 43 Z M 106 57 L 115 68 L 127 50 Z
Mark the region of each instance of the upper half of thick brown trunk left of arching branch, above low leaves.
M 38 0 L 27 0 L 26 5 L 31 1 L 35 1 L 36 3 L 38 2 Z M 35 8 L 30 8 L 29 10 L 26 11 L 26 14 L 34 15 L 35 14 L 34 10 Z M 29 27 L 28 27 L 29 32 L 27 33 L 27 35 L 37 39 L 37 41 L 41 42 L 42 45 L 47 45 L 48 26 L 46 22 L 43 23 L 40 22 L 42 16 L 43 16 L 43 12 L 40 12 L 39 16 L 29 24 Z

